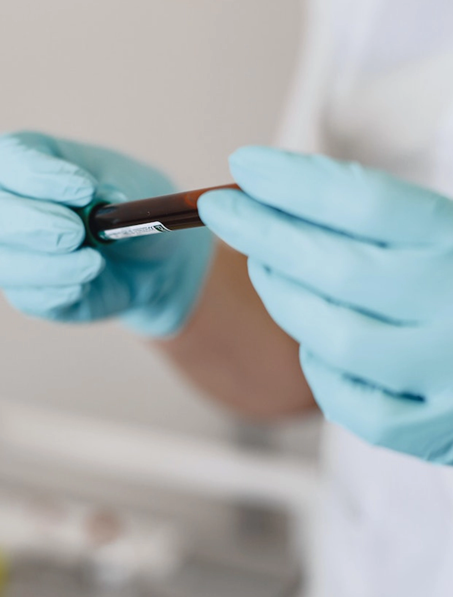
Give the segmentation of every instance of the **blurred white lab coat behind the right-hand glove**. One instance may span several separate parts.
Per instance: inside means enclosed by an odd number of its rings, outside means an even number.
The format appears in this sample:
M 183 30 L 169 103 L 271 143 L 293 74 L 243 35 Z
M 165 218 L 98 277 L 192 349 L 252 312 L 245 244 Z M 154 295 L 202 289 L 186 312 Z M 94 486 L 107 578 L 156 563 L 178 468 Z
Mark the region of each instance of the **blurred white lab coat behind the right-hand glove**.
M 307 14 L 282 146 L 453 198 L 453 0 L 309 0 Z M 452 597 L 453 467 L 334 426 L 325 458 L 323 595 Z

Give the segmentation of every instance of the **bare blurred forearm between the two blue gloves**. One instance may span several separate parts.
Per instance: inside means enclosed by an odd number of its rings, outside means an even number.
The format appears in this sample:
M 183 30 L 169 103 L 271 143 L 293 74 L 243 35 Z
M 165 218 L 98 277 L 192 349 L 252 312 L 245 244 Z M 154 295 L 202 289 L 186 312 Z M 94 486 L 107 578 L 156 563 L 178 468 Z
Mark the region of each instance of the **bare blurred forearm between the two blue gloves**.
M 184 330 L 157 344 L 201 389 L 246 417 L 270 420 L 315 406 L 298 344 L 264 309 L 246 257 L 224 244 Z

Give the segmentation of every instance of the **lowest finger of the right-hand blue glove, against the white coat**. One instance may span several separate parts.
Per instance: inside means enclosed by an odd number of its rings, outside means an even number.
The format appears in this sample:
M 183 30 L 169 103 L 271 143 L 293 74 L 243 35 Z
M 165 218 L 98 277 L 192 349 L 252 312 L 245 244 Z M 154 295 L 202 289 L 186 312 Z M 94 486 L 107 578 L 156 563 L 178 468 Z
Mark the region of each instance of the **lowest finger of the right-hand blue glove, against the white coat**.
M 304 375 L 325 417 L 369 444 L 429 459 L 432 438 L 426 433 L 429 405 L 395 396 L 329 367 L 304 347 Z M 451 431 L 452 421 L 449 421 Z M 442 439 L 442 438 L 441 438 Z

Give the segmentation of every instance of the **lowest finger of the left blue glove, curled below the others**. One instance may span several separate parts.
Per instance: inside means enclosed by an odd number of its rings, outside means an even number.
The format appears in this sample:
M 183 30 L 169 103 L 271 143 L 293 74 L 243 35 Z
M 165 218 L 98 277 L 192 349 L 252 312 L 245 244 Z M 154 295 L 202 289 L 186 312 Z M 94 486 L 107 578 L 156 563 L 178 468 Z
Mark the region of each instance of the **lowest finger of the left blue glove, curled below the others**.
M 56 309 L 65 309 L 85 296 L 88 285 L 75 284 L 61 287 L 5 288 L 7 300 L 16 309 L 39 317 L 48 317 Z

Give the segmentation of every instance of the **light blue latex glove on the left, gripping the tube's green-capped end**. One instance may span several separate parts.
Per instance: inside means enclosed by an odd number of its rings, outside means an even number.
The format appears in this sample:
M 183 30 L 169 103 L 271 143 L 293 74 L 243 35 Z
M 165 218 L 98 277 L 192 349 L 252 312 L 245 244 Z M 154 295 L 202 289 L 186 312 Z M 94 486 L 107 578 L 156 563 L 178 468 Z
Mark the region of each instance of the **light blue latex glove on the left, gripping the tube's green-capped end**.
M 208 230 L 81 248 L 84 226 L 70 209 L 171 191 L 158 171 L 107 149 L 37 133 L 0 137 L 0 288 L 30 315 L 121 315 L 138 333 L 176 333 L 207 269 Z

